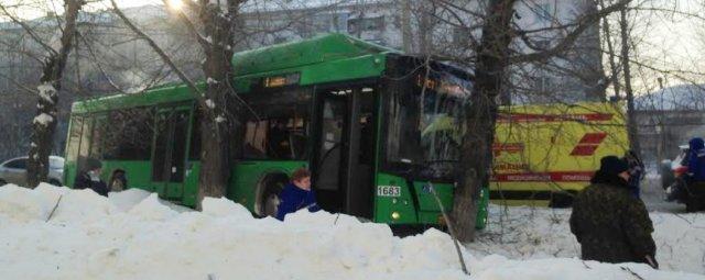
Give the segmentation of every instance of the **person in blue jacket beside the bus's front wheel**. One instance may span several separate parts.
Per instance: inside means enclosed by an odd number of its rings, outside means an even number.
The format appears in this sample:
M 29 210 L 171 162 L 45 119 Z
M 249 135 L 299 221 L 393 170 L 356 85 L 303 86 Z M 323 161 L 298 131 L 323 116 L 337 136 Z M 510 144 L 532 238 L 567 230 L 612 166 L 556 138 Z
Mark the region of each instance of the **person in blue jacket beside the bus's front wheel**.
M 321 210 L 316 203 L 316 194 L 311 189 L 311 172 L 304 168 L 297 169 L 291 176 L 288 183 L 279 194 L 281 202 L 276 210 L 276 219 L 284 221 L 289 213 L 294 213 L 301 209 L 308 209 L 310 212 Z

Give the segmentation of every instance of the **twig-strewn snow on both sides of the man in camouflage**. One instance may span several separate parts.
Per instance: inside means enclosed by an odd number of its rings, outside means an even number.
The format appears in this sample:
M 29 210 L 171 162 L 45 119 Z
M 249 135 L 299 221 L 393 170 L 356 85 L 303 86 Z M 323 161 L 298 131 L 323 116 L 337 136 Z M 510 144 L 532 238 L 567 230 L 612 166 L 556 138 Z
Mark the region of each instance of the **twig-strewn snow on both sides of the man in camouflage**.
M 489 208 L 488 227 L 468 244 L 477 255 L 517 259 L 576 257 L 581 247 L 571 233 L 570 209 Z M 705 273 L 705 214 L 651 212 L 661 269 Z

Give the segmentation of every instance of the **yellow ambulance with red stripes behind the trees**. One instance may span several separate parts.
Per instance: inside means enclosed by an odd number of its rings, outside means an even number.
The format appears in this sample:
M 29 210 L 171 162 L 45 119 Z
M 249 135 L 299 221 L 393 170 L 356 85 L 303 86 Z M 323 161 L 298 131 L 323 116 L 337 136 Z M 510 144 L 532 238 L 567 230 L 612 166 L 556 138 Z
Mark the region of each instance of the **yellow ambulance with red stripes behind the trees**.
M 500 108 L 492 146 L 490 201 L 567 206 L 604 156 L 629 148 L 620 103 Z

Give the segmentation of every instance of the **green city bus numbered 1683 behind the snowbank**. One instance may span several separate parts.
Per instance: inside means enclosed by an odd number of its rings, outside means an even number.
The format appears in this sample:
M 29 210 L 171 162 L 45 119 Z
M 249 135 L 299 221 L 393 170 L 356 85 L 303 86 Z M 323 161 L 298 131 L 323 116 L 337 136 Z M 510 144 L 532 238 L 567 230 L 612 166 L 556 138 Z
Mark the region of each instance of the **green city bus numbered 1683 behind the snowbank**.
M 452 209 L 467 72 L 343 34 L 237 53 L 232 65 L 237 100 L 251 111 L 231 142 L 228 199 L 272 215 L 291 172 L 307 167 L 326 211 L 395 225 L 443 223 L 429 182 Z M 199 117 L 184 85 L 75 102 L 66 186 L 93 157 L 106 181 L 124 170 L 129 187 L 194 206 Z

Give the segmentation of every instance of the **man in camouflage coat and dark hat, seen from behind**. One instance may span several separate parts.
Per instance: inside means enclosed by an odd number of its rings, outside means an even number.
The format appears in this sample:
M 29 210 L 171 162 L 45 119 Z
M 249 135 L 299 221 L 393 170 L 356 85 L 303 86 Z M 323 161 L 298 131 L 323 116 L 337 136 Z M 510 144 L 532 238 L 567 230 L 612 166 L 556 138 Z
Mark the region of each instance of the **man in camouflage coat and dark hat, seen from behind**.
M 629 189 L 629 166 L 616 156 L 600 159 L 590 184 L 573 202 L 571 232 L 586 260 L 644 262 L 658 268 L 653 225 Z

